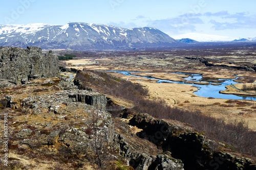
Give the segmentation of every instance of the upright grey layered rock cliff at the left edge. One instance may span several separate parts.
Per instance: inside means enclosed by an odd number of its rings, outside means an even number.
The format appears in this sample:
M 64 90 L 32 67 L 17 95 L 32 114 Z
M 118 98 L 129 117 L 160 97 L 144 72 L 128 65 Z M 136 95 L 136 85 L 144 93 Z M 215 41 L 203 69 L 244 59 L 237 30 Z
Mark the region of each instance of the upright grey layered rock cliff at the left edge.
M 0 47 L 0 78 L 20 84 L 24 79 L 51 78 L 58 74 L 58 57 L 41 48 Z

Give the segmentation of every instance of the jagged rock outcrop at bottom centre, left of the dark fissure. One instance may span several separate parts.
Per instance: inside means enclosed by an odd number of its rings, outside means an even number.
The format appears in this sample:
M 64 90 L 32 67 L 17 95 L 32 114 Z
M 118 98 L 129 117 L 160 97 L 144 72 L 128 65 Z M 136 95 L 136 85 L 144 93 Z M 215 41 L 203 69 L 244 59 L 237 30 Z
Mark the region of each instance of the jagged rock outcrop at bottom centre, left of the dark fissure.
M 136 144 L 133 140 L 136 140 Z M 148 151 L 148 148 L 156 147 L 148 141 L 140 141 L 131 136 L 127 138 L 121 134 L 115 134 L 114 141 L 119 144 L 120 155 L 125 157 L 135 170 L 184 170 L 182 161 L 173 158 L 170 152 L 160 154 Z

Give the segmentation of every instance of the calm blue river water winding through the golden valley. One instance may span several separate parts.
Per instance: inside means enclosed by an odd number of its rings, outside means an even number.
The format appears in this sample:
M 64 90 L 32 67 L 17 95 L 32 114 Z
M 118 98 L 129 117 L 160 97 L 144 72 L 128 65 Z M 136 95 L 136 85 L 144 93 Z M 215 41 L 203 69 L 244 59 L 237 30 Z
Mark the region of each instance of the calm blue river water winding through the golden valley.
M 133 71 L 110 71 L 110 72 L 117 72 L 119 74 L 127 75 L 127 76 L 134 76 L 131 75 L 131 73 L 134 73 Z M 154 74 L 154 72 L 151 72 Z M 186 74 L 182 72 L 174 72 L 176 74 Z M 209 85 L 198 85 L 198 84 L 193 84 L 193 83 L 186 83 L 186 82 L 176 82 L 176 81 L 170 81 L 170 80 L 160 80 L 160 79 L 155 79 L 151 77 L 144 77 L 144 76 L 134 76 L 134 77 L 143 77 L 147 79 L 152 79 L 152 80 L 158 80 L 157 83 L 179 83 L 179 84 L 189 84 L 196 86 L 198 88 L 198 91 L 194 92 L 195 94 L 205 97 L 205 98 L 220 98 L 220 99 L 234 99 L 234 100 L 256 100 L 256 98 L 253 97 L 244 97 L 244 96 L 238 96 L 238 95 L 233 95 L 233 94 L 221 94 L 219 91 L 225 90 L 225 86 L 230 85 L 230 84 L 237 84 L 237 82 L 234 82 L 236 79 L 218 79 L 223 82 L 221 82 L 221 85 L 212 85 L 210 80 L 208 81 L 203 81 L 202 75 L 199 74 L 186 74 L 190 75 L 188 78 L 184 78 L 187 81 L 197 81 L 197 82 L 209 82 Z

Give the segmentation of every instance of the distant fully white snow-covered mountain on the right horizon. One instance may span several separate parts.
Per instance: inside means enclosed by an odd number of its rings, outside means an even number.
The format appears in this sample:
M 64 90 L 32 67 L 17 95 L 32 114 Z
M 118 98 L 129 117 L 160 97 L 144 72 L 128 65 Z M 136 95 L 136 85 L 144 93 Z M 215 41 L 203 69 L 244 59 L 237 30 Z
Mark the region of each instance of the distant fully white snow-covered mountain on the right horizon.
M 190 38 L 199 42 L 217 42 L 217 41 L 233 41 L 236 38 L 220 35 L 186 33 L 178 36 L 173 36 L 175 39 Z

